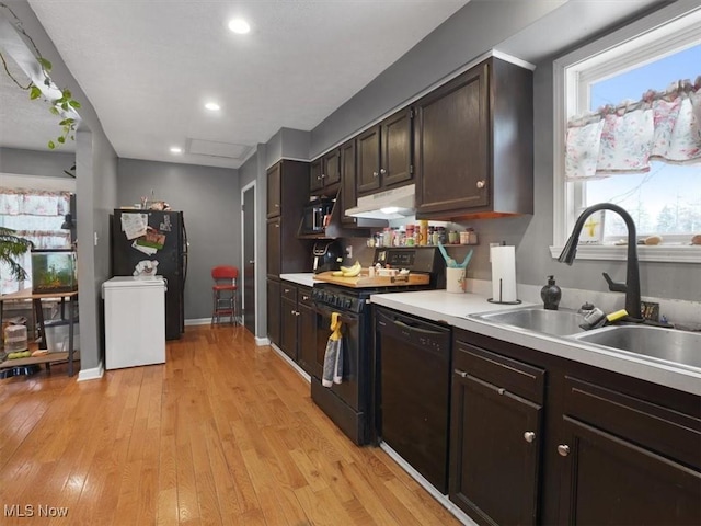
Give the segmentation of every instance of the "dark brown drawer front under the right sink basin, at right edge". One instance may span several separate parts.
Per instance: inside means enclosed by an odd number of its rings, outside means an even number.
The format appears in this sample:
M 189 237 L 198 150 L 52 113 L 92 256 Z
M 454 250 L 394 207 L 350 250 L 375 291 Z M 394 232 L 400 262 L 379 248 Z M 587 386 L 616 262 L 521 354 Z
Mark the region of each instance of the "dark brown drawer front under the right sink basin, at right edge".
M 565 386 L 566 414 L 701 469 L 701 414 L 683 414 L 571 376 Z

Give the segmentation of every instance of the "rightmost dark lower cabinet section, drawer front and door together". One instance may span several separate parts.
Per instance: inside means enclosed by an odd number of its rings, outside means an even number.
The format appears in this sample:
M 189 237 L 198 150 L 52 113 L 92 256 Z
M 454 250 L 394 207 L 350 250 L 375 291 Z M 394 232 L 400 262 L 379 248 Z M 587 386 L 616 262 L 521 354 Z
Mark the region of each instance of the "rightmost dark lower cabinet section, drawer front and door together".
M 561 524 L 701 524 L 698 416 L 600 382 L 565 387 Z

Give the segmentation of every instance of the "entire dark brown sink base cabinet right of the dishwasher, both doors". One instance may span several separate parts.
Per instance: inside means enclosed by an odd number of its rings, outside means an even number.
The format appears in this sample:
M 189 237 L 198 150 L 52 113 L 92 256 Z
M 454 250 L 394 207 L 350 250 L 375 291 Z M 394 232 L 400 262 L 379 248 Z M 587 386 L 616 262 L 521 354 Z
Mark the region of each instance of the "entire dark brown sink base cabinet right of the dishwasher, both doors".
M 701 524 L 701 397 L 453 330 L 449 496 L 481 525 Z

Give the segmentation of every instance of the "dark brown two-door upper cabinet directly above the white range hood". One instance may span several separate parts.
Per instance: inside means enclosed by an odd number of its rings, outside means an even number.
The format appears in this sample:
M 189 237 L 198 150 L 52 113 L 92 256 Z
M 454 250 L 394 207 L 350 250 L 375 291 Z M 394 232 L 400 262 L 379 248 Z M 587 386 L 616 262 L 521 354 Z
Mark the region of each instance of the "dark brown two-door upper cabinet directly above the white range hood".
M 412 119 L 413 111 L 406 107 L 358 135 L 358 195 L 412 180 Z

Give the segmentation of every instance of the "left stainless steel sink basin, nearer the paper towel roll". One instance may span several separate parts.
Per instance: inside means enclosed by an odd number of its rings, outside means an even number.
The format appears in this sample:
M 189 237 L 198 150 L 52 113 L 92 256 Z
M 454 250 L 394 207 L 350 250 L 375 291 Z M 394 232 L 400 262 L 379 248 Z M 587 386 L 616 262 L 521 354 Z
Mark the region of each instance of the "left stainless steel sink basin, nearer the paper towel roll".
M 579 327 L 579 323 L 584 322 L 584 316 L 566 309 L 545 310 L 542 307 L 521 307 L 514 310 L 470 315 L 470 318 L 504 323 L 554 336 L 566 336 L 584 331 Z

